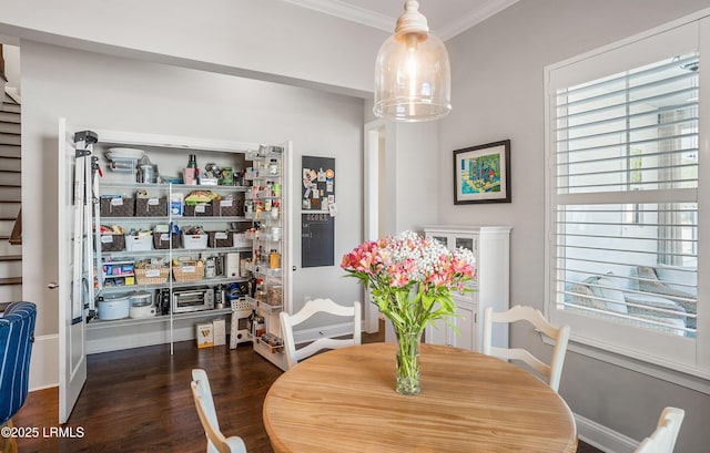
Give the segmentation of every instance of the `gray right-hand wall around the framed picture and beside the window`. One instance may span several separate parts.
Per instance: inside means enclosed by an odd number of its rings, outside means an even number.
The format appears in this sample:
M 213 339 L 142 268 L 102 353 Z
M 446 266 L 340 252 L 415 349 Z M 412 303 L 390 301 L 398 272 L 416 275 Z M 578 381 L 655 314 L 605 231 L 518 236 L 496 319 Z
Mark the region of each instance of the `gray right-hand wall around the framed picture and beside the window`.
M 511 303 L 544 310 L 544 68 L 710 7 L 707 0 L 523 0 L 447 42 L 454 111 L 442 122 L 439 222 L 513 225 Z M 513 203 L 454 206 L 452 151 L 513 141 Z M 514 344 L 537 337 L 514 329 Z M 542 353 L 549 353 L 540 347 Z M 648 435 L 666 405 L 686 409 L 678 452 L 707 452 L 710 395 L 568 353 L 560 393 L 621 434 Z

